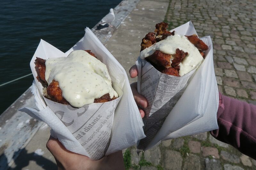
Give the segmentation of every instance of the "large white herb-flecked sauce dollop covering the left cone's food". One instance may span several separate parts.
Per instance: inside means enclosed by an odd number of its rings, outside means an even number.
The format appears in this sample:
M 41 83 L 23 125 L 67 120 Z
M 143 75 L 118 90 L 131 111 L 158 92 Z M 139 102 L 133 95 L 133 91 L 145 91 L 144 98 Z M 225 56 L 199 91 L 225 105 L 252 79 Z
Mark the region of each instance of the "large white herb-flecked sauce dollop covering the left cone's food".
M 84 50 L 47 59 L 45 66 L 45 80 L 48 84 L 58 81 L 62 96 L 74 107 L 91 104 L 107 93 L 110 98 L 118 97 L 106 65 Z

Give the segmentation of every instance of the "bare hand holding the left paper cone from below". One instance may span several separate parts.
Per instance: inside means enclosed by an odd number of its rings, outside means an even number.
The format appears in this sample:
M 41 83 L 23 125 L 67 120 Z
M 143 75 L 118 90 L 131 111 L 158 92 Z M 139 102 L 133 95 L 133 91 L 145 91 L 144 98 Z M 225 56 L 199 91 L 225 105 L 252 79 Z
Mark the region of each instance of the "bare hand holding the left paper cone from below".
M 58 169 L 124 169 L 122 151 L 104 156 L 99 160 L 91 160 L 87 156 L 68 151 L 58 139 L 52 136 L 46 147 L 54 156 Z

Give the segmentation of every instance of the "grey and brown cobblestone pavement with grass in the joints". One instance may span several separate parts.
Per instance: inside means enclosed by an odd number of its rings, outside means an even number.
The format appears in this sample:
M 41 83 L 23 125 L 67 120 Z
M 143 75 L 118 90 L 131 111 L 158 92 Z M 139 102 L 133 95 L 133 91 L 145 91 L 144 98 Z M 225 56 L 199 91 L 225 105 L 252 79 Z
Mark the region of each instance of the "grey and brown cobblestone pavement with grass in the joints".
M 219 91 L 256 104 L 256 2 L 170 0 L 169 28 L 191 20 L 199 37 L 210 35 Z M 256 169 L 256 161 L 209 132 L 167 140 L 148 151 L 124 151 L 129 169 Z

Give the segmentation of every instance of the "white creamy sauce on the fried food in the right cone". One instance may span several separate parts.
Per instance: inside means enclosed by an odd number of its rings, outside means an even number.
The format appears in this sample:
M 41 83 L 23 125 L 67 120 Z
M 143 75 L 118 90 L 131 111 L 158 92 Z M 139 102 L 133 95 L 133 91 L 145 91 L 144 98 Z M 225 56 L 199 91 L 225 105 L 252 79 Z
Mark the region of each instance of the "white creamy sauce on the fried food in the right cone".
M 204 60 L 196 46 L 194 46 L 194 44 L 192 44 L 186 36 L 179 35 L 177 32 L 175 32 L 173 36 L 168 36 L 164 40 L 159 41 L 141 51 L 140 58 L 145 59 L 146 57 L 155 53 L 157 50 L 165 54 L 175 54 L 177 48 L 184 52 L 188 52 L 188 55 L 179 64 L 180 76 L 183 76 L 191 70 L 199 67 Z M 173 60 L 173 57 L 171 57 L 171 60 Z

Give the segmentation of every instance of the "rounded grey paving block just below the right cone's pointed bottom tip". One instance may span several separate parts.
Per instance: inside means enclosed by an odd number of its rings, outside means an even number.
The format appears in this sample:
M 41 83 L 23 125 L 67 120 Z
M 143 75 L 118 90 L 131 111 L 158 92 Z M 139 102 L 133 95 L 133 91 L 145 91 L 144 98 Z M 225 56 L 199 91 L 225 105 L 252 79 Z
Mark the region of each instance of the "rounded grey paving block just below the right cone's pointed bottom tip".
M 144 158 L 154 165 L 158 165 L 161 158 L 161 151 L 159 146 L 155 146 L 144 152 Z

